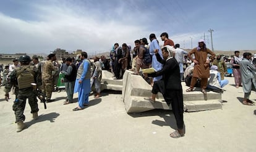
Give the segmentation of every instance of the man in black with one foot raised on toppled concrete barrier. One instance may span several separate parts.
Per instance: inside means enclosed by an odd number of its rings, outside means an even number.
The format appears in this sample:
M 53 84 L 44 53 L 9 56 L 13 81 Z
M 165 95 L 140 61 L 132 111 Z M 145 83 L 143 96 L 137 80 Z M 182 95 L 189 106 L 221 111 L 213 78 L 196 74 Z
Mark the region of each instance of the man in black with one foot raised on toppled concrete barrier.
M 163 79 L 154 82 L 151 92 L 152 96 L 156 96 L 158 92 L 161 92 L 165 102 L 171 105 L 176 119 L 177 130 L 169 135 L 172 138 L 179 138 L 183 137 L 185 134 L 183 121 L 184 105 L 179 63 L 177 63 L 175 58 L 171 58 L 172 52 L 169 52 L 166 47 L 163 47 L 162 54 L 164 59 L 158 54 L 158 50 L 155 50 L 156 59 L 163 64 L 163 68 L 160 71 L 148 74 L 148 76 L 163 76 Z M 153 102 L 153 100 L 151 100 L 151 102 Z

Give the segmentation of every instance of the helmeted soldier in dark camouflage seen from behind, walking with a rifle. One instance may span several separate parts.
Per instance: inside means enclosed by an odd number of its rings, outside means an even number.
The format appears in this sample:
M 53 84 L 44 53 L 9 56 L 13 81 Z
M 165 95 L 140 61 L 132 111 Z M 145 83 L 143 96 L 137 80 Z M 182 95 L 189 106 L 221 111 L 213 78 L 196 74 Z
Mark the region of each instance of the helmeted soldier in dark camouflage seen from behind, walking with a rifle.
M 12 110 L 14 110 L 15 118 L 17 123 L 17 132 L 25 129 L 25 116 L 23 114 L 26 100 L 28 98 L 28 103 L 31 107 L 31 113 L 33 119 L 38 118 L 38 104 L 36 99 L 36 93 L 33 89 L 31 83 L 36 83 L 38 86 L 41 85 L 41 73 L 35 66 L 29 65 L 31 58 L 28 55 L 22 55 L 19 58 L 21 66 L 15 68 L 11 74 L 9 74 L 7 79 L 7 84 L 4 89 L 6 92 L 6 100 L 9 97 L 9 92 L 11 91 L 12 86 L 15 86 L 18 90 L 17 97 L 15 99 Z

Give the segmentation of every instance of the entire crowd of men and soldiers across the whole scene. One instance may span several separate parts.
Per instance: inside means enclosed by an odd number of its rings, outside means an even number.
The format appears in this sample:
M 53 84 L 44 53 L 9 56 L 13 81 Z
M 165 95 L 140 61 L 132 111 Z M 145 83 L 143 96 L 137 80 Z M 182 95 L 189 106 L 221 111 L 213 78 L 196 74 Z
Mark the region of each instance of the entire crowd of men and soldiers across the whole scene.
M 36 100 L 36 89 L 45 94 L 46 102 L 54 102 L 51 98 L 54 88 L 58 89 L 60 83 L 64 83 L 67 93 L 64 105 L 74 103 L 73 95 L 78 92 L 78 105 L 73 111 L 83 110 L 89 105 L 89 94 L 92 87 L 95 87 L 95 98 L 100 97 L 101 70 L 111 70 L 114 79 L 122 79 L 126 70 L 134 71 L 133 74 L 141 75 L 152 86 L 151 96 L 145 98 L 155 102 L 158 92 L 163 94 L 164 100 L 171 105 L 176 118 L 177 130 L 171 132 L 170 137 L 179 138 L 185 134 L 183 120 L 183 94 L 181 82 L 186 81 L 187 92 L 194 91 L 194 87 L 200 87 L 203 94 L 207 90 L 223 93 L 222 88 L 228 84 L 224 79 L 227 73 L 225 62 L 221 55 L 216 55 L 207 48 L 203 39 L 198 41 L 198 46 L 186 52 L 179 44 L 174 44 L 169 39 L 168 33 L 160 35 L 164 41 L 160 47 L 155 34 L 150 34 L 150 44 L 147 38 L 136 39 L 134 49 L 126 43 L 119 47 L 115 43 L 110 52 L 110 61 L 105 56 L 94 57 L 93 62 L 88 59 L 86 52 L 82 52 L 79 61 L 74 58 L 62 58 L 62 63 L 56 61 L 55 54 L 49 54 L 45 63 L 28 55 L 22 55 L 19 60 L 13 60 L 11 66 L 3 70 L 6 100 L 9 99 L 9 92 L 14 88 L 15 102 L 13 110 L 17 122 L 17 132 L 25 128 L 23 111 L 28 98 L 31 106 L 32 118 L 38 118 L 38 104 Z M 231 59 L 236 87 L 243 87 L 244 105 L 254 105 L 249 100 L 251 90 L 256 87 L 255 65 L 252 64 L 252 54 L 244 53 L 243 58 L 239 57 L 239 51 L 234 52 Z M 20 62 L 20 65 L 18 64 Z M 153 68 L 153 73 L 141 73 L 147 68 Z

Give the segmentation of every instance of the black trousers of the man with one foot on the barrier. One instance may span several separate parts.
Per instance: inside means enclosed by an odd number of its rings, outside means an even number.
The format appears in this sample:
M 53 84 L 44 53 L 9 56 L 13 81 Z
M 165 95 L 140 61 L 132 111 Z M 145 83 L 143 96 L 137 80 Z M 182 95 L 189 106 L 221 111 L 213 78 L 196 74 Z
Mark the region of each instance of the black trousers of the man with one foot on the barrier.
M 183 129 L 184 120 L 184 105 L 183 105 L 183 94 L 182 89 L 173 90 L 173 89 L 164 89 L 164 83 L 162 80 L 155 81 L 153 89 L 151 90 L 152 94 L 157 94 L 161 92 L 163 94 L 164 100 L 167 105 L 171 105 L 173 109 L 173 114 L 176 119 L 176 124 L 178 129 Z

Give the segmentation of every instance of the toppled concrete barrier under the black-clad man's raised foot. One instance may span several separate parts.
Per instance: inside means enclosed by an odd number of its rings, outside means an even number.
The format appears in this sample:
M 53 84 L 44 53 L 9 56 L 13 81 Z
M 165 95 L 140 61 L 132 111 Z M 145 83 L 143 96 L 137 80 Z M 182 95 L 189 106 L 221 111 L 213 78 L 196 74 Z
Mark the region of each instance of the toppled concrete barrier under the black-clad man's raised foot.
M 127 113 L 140 113 L 153 109 L 170 110 L 163 95 L 158 94 L 158 99 L 155 103 L 144 100 L 144 97 L 150 97 L 152 87 L 147 84 L 141 76 L 131 74 L 126 71 L 123 79 L 122 98 L 126 107 Z M 185 87 L 184 84 L 182 87 Z M 185 87 L 186 88 L 186 87 Z M 220 109 L 222 105 L 221 94 L 216 92 L 207 92 L 203 94 L 200 91 L 186 92 L 183 89 L 184 110 L 186 111 L 202 111 Z

